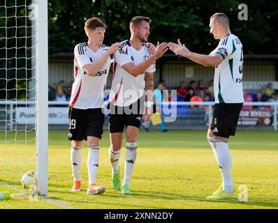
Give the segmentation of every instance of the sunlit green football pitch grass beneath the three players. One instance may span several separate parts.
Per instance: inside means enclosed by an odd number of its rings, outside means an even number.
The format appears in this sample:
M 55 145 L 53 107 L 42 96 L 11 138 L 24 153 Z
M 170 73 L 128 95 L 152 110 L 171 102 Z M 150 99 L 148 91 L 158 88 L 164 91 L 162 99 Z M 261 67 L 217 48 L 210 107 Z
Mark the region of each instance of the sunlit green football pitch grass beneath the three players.
M 50 199 L 3 200 L 0 201 L 0 208 L 278 208 L 278 132 L 272 130 L 238 130 L 236 136 L 230 139 L 235 193 L 241 194 L 242 190 L 238 188 L 244 185 L 248 190 L 248 200 L 245 202 L 237 199 L 205 199 L 221 184 L 221 174 L 207 143 L 205 130 L 170 130 L 163 133 L 158 130 L 149 133 L 140 130 L 136 166 L 131 178 L 131 195 L 112 190 L 108 131 L 104 132 L 101 141 L 97 179 L 98 185 L 105 185 L 107 190 L 101 195 L 86 194 L 86 145 L 82 148 L 81 192 L 71 192 L 73 178 L 67 130 L 50 130 Z M 3 148 L 3 144 L 0 146 Z M 20 146 L 19 143 L 17 146 Z M 124 178 L 125 153 L 123 145 L 121 180 Z M 2 192 L 3 186 L 0 185 L 0 189 Z

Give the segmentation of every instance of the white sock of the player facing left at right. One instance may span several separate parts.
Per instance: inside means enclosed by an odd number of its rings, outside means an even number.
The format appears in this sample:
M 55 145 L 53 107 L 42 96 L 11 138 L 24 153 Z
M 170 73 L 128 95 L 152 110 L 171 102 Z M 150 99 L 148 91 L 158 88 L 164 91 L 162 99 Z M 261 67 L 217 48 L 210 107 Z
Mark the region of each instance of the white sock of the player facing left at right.
M 212 146 L 212 151 L 221 171 L 223 190 L 231 193 L 233 192 L 232 157 L 228 149 L 228 143 L 210 137 L 207 137 L 207 141 Z

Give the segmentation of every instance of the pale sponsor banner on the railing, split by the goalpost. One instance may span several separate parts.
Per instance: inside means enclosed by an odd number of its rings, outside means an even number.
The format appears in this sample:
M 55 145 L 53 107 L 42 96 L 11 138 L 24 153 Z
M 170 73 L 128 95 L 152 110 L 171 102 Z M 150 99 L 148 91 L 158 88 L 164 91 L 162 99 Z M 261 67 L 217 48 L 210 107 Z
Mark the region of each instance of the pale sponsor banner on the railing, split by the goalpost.
M 16 109 L 17 124 L 34 125 L 36 123 L 35 107 L 17 107 Z M 49 107 L 48 108 L 49 124 L 68 124 L 68 107 Z

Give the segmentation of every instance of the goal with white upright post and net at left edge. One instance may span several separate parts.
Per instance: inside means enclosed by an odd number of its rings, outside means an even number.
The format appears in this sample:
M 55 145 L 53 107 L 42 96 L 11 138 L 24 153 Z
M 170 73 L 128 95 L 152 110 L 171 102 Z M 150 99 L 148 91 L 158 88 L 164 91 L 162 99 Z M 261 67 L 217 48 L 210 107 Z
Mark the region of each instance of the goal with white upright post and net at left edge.
M 1 0 L 0 33 L 0 192 L 47 195 L 47 0 Z

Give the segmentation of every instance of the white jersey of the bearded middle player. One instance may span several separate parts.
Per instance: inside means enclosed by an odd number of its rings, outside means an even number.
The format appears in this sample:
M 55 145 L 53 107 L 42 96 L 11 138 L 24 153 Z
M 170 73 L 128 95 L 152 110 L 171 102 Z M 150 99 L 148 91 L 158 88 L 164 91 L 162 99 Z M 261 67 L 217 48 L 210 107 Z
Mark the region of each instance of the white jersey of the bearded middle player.
M 140 50 L 134 49 L 129 40 L 122 42 L 121 49 L 114 54 L 113 80 L 109 101 L 112 105 L 126 107 L 136 102 L 144 95 L 145 91 L 145 73 L 156 70 L 155 63 L 152 64 L 145 72 L 134 77 L 129 74 L 122 66 L 126 63 L 133 62 L 135 65 L 146 61 L 151 56 L 145 43 Z

